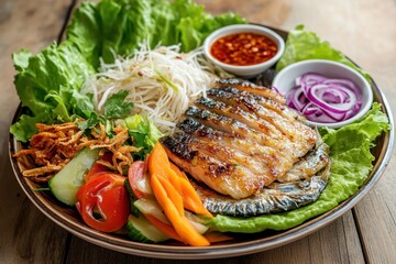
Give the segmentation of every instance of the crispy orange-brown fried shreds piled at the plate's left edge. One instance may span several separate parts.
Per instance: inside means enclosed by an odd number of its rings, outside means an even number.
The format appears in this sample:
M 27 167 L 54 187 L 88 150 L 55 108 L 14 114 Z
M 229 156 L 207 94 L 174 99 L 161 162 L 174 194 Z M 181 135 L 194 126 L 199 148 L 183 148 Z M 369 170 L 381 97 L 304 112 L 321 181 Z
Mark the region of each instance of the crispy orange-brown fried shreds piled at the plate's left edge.
M 37 183 L 47 182 L 86 146 L 102 148 L 101 154 L 111 152 L 111 163 L 103 162 L 103 165 L 122 174 L 123 168 L 133 162 L 131 153 L 141 150 L 128 144 L 130 136 L 125 128 L 116 127 L 114 136 L 110 139 L 102 124 L 94 128 L 90 135 L 85 135 L 77 123 L 78 121 L 52 125 L 37 123 L 38 133 L 30 140 L 29 148 L 13 154 L 23 176 Z

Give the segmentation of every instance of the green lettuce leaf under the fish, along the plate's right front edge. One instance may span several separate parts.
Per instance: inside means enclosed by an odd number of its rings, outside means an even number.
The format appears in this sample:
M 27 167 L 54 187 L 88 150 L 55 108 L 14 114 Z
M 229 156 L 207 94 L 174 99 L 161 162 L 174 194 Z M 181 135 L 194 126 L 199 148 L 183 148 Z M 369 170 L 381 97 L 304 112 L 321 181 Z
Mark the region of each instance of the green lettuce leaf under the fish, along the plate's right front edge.
M 322 129 L 320 133 L 330 146 L 332 165 L 328 186 L 317 201 L 288 212 L 254 218 L 217 216 L 209 223 L 210 227 L 223 232 L 243 233 L 266 229 L 286 230 L 331 210 L 352 196 L 366 180 L 374 161 L 370 150 L 374 146 L 375 139 L 388 129 L 388 119 L 377 102 L 355 123 L 339 130 Z

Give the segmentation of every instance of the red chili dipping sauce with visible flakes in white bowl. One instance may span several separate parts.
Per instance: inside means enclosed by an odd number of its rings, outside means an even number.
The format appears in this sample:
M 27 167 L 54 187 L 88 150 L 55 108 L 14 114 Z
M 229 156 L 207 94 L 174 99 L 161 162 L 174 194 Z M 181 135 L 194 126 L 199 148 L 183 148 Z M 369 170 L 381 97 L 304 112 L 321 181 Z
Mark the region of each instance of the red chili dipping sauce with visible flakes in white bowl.
M 246 66 L 264 63 L 274 57 L 277 46 L 274 41 L 256 33 L 237 33 L 217 40 L 210 54 L 224 64 Z

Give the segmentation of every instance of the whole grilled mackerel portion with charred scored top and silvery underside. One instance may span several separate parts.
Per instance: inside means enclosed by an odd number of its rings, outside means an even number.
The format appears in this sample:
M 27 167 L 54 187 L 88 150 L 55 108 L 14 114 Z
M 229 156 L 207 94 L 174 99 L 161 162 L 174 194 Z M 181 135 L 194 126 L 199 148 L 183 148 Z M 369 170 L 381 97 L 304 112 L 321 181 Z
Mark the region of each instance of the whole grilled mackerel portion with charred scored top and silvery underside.
M 221 79 L 162 139 L 169 158 L 195 178 L 213 213 L 256 216 L 316 200 L 329 148 L 279 94 Z M 209 188 L 208 188 L 209 187 Z

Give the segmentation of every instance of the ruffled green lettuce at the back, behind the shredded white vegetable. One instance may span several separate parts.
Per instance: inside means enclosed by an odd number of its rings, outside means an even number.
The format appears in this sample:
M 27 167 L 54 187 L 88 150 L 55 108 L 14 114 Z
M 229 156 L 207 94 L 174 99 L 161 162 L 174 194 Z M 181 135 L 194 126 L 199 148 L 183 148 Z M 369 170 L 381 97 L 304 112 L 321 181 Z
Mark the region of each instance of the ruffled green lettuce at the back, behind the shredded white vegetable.
M 180 43 L 188 52 L 212 31 L 237 23 L 246 21 L 233 13 L 213 18 L 190 0 L 102 0 L 82 3 L 66 33 L 97 68 L 100 57 L 111 63 L 116 54 L 129 55 L 145 41 L 152 48 Z

